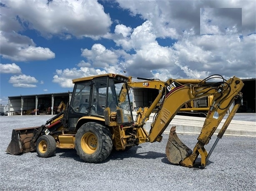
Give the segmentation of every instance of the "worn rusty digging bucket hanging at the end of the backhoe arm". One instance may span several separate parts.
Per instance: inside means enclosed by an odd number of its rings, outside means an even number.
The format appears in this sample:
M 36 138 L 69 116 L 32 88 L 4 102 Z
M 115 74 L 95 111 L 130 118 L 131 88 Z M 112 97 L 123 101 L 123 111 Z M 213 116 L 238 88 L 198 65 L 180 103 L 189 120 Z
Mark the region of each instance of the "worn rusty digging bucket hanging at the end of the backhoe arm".
M 178 138 L 176 126 L 171 127 L 169 139 L 166 144 L 166 157 L 172 164 L 180 164 L 180 162 L 191 155 L 193 151 L 188 148 Z

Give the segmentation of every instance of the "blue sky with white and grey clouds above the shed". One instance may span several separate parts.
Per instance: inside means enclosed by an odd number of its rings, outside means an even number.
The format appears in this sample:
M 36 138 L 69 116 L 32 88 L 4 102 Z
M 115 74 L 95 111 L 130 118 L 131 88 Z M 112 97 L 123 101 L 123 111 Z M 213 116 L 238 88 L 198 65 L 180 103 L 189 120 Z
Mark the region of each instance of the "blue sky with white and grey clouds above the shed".
M 0 104 L 103 73 L 256 78 L 255 55 L 255 0 L 0 0 Z

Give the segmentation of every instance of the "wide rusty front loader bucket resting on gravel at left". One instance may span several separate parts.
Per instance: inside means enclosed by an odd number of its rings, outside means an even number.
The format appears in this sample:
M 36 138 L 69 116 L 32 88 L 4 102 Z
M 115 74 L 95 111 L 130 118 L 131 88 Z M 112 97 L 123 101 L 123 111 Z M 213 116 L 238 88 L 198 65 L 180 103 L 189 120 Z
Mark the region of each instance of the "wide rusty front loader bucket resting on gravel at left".
M 37 131 L 38 128 L 39 127 L 14 129 L 12 140 L 5 152 L 18 155 L 20 153 L 33 151 L 33 149 L 30 149 L 30 140 L 32 140 L 34 136 L 34 131 Z

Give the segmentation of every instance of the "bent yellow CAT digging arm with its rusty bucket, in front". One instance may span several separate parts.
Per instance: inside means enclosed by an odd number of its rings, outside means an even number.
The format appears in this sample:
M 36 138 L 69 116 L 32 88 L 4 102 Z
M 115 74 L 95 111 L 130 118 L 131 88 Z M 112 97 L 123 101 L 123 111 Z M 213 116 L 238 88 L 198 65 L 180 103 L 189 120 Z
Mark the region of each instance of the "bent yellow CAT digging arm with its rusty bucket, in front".
M 242 93 L 240 92 L 242 87 L 243 82 L 241 79 L 236 78 L 235 76 L 228 79 L 228 81 L 211 83 L 210 86 L 207 86 L 207 83 L 203 85 L 193 85 L 192 83 L 186 85 L 178 83 L 173 79 L 169 79 L 166 81 L 165 86 L 160 93 L 161 95 L 158 95 L 159 97 L 163 96 L 163 103 L 158 115 L 156 116 L 156 119 L 151 124 L 151 130 L 148 135 L 149 142 L 161 140 L 161 134 L 178 113 L 178 110 L 180 110 L 185 103 L 190 100 L 213 95 L 211 108 L 208 111 L 201 134 L 198 136 L 198 143 L 194 147 L 193 152 L 186 147 L 185 144 L 178 140 L 175 127 L 171 129 L 171 138 L 169 137 L 166 147 L 167 158 L 171 163 L 181 164 L 182 166 L 186 167 L 193 167 L 196 158 L 200 154 L 201 166 L 205 166 L 207 152 L 204 149 L 204 145 L 208 144 L 211 136 L 220 124 L 224 115 L 227 113 L 228 108 L 231 106 L 234 99 L 242 97 Z M 157 102 L 158 100 L 156 99 L 155 101 Z M 149 108 L 148 111 L 151 112 L 151 108 Z M 145 120 L 148 118 L 149 112 L 144 114 Z M 231 116 L 229 120 L 231 121 L 232 118 L 233 116 Z M 142 120 L 140 125 L 143 125 L 143 122 L 144 120 Z M 175 147 L 175 149 L 170 149 L 168 147 Z M 184 152 L 183 154 L 176 154 L 173 153 L 175 150 L 177 153 Z M 177 155 L 180 156 L 177 157 Z

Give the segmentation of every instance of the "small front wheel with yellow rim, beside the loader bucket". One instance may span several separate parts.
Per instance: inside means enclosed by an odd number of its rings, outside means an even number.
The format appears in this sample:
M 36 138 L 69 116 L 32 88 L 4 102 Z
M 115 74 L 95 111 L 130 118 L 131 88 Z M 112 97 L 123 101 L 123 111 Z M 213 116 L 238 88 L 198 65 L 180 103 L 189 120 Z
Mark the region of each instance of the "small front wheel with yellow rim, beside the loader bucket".
M 39 157 L 47 158 L 52 156 L 56 150 L 56 141 L 51 135 L 43 135 L 36 142 L 36 152 Z

